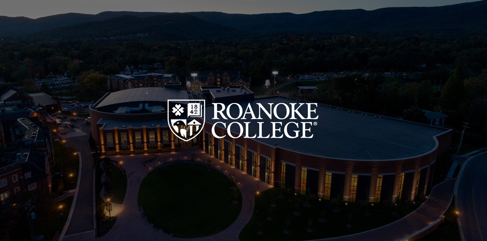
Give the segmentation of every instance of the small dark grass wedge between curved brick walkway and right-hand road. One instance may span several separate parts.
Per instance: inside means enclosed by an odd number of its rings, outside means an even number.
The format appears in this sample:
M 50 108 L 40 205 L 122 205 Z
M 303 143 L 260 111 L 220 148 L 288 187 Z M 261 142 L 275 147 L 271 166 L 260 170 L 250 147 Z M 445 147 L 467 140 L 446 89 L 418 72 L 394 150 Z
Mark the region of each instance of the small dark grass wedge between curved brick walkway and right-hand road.
M 445 212 L 445 222 L 426 235 L 421 241 L 461 241 L 460 230 L 455 214 L 455 199 L 451 201 L 450 207 Z

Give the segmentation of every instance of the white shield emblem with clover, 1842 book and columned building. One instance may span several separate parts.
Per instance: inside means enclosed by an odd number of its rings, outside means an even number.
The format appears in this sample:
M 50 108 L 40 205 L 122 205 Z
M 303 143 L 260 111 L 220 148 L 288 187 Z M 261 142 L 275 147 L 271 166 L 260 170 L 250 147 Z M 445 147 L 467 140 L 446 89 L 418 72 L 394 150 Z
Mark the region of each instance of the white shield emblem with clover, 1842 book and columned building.
M 205 104 L 205 100 L 168 100 L 168 124 L 172 133 L 183 141 L 200 134 L 205 125 Z

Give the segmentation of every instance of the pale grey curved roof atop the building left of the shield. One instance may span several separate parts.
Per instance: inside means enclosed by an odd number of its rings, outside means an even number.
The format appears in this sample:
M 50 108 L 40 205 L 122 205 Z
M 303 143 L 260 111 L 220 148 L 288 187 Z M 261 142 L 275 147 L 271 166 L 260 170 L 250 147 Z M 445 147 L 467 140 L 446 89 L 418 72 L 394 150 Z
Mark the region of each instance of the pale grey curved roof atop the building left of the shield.
M 168 101 L 189 99 L 186 91 L 160 87 L 135 88 L 110 93 L 95 108 L 127 102 Z

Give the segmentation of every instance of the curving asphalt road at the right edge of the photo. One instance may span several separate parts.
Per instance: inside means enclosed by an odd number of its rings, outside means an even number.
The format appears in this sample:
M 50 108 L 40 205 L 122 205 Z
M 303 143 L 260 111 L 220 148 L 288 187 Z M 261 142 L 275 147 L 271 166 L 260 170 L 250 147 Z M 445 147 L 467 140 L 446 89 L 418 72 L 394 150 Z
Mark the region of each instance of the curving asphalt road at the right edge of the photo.
M 487 152 L 467 160 L 459 173 L 455 206 L 460 211 L 462 241 L 487 241 Z

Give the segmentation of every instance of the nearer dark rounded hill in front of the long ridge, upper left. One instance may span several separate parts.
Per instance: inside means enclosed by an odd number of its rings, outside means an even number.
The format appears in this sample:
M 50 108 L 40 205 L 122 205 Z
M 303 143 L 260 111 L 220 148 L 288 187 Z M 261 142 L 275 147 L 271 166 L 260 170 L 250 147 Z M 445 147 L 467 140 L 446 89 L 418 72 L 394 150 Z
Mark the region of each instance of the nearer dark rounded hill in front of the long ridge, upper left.
M 103 38 L 129 35 L 153 35 L 159 39 L 178 40 L 185 37 L 235 36 L 239 30 L 210 23 L 197 17 L 174 13 L 138 18 L 125 15 L 103 21 L 80 23 L 31 35 L 34 38 Z

